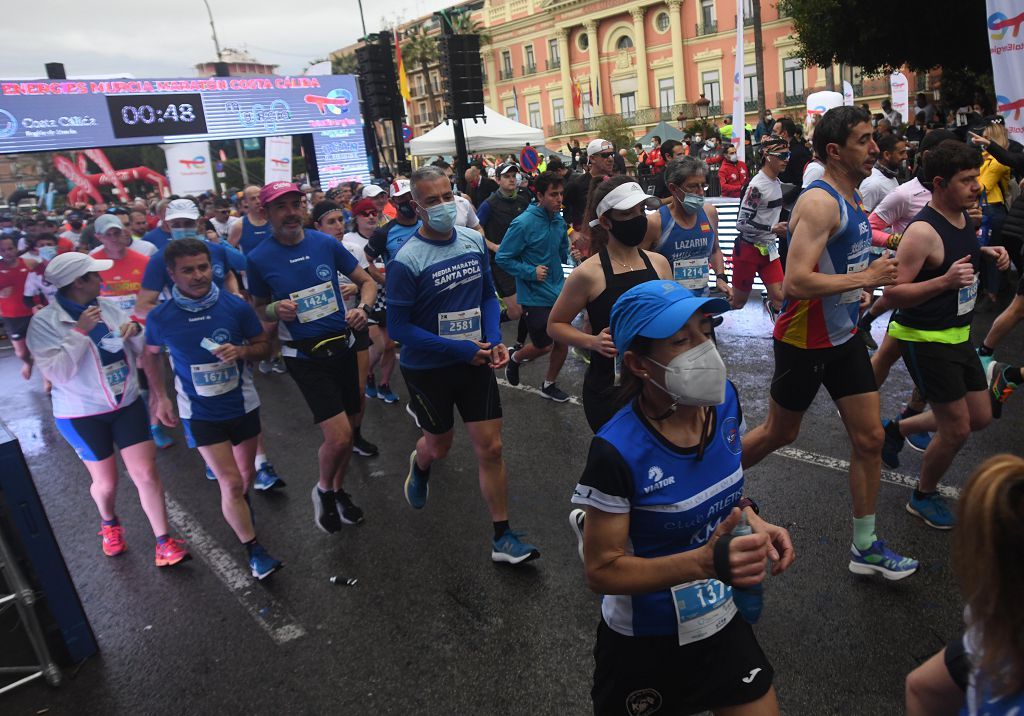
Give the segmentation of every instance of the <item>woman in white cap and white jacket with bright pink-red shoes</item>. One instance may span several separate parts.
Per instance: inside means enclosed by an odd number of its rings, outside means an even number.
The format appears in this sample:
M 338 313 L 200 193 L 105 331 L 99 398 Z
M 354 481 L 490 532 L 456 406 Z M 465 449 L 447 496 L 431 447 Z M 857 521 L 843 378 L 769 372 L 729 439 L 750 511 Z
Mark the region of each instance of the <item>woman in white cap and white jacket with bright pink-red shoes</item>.
M 115 510 L 117 446 L 157 538 L 157 566 L 171 566 L 187 559 L 188 551 L 170 537 L 156 448 L 139 399 L 135 359 L 142 349 L 141 328 L 116 303 L 98 300 L 99 271 L 111 266 L 77 252 L 50 261 L 45 279 L 57 287 L 57 300 L 32 321 L 29 345 L 53 383 L 57 430 L 92 477 L 89 492 L 102 520 L 103 554 L 114 557 L 127 548 Z

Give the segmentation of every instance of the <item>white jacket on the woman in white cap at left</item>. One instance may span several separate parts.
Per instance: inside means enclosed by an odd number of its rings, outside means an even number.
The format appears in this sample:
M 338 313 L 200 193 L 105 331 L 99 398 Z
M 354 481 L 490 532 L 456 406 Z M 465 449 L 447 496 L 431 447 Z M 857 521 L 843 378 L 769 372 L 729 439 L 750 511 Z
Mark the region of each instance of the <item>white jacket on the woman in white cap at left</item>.
M 100 298 L 102 321 L 117 332 L 129 315 L 117 303 Z M 123 376 L 123 392 L 112 389 L 112 378 L 99 357 L 99 348 L 92 339 L 75 328 L 75 320 L 53 301 L 32 317 L 27 336 L 29 350 L 36 366 L 53 383 L 54 418 L 83 418 L 110 413 L 130 406 L 138 397 L 138 370 L 135 359 L 141 354 L 145 339 L 142 333 L 124 342 L 127 374 Z M 114 385 L 121 378 L 114 378 Z

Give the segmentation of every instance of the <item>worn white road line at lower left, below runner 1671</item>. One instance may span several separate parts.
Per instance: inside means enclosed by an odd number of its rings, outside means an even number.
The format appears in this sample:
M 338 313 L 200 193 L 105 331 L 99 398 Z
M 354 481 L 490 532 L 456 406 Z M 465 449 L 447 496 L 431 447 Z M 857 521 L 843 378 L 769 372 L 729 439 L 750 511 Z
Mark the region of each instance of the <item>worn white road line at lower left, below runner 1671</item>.
M 305 628 L 288 610 L 267 594 L 256 588 L 252 576 L 228 554 L 199 521 L 170 495 L 165 495 L 167 516 L 182 538 L 188 543 L 188 551 L 200 556 L 210 572 L 224 583 L 249 616 L 270 635 L 279 646 L 306 635 Z

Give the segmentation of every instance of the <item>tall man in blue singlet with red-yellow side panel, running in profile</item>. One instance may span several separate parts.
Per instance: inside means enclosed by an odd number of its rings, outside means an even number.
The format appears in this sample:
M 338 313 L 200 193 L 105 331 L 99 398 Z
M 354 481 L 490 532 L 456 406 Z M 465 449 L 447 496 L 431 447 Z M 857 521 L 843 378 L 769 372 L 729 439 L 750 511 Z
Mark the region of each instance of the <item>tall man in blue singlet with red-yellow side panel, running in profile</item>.
M 876 286 L 895 283 L 897 266 L 886 255 L 868 263 L 871 228 L 856 186 L 878 154 L 870 115 L 854 107 L 829 110 L 814 128 L 814 149 L 825 163 L 824 179 L 801 195 L 790 222 L 787 298 L 775 324 L 768 419 L 743 437 L 743 468 L 797 439 L 824 384 L 852 443 L 849 568 L 900 580 L 919 564 L 876 536 L 884 432 L 867 348 L 856 330 L 858 305 Z

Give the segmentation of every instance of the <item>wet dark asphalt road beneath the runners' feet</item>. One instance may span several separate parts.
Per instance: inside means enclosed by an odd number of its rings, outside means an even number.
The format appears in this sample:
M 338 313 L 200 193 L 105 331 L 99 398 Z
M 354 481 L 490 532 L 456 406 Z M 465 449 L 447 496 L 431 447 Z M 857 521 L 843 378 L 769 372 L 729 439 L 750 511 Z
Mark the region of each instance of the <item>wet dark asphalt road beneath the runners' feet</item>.
M 976 318 L 976 340 L 992 318 Z M 877 322 L 879 340 L 884 326 Z M 766 411 L 769 329 L 752 304 L 718 332 L 750 427 Z M 1022 336 L 1018 330 L 1001 346 L 1004 360 L 1024 357 Z M 370 402 L 365 434 L 382 454 L 353 458 L 347 481 L 366 522 L 333 536 L 315 530 L 309 491 L 318 430 L 288 376 L 259 376 L 270 460 L 289 486 L 254 501 L 260 540 L 286 568 L 264 584 L 240 583 L 244 552 L 180 429 L 159 465 L 174 522 L 197 558 L 170 571 L 153 565 L 127 478 L 119 514 L 129 551 L 104 558 L 87 474 L 55 431 L 40 381 L 24 384 L 10 351 L 0 355 L 0 418 L 22 441 L 100 645 L 59 688 L 36 681 L 0 696 L 0 713 L 590 712 L 599 605 L 566 519 L 591 436 L 580 406 L 502 388 L 512 524 L 543 553 L 510 567 L 489 560 L 490 524 L 464 432 L 433 470 L 427 507 L 408 506 L 401 483 L 418 431 L 401 405 Z M 544 370 L 543 361 L 524 367 L 523 383 L 538 385 Z M 579 395 L 582 375 L 570 356 L 560 384 Z M 404 395 L 400 378 L 394 383 Z M 899 364 L 883 389 L 884 414 L 899 410 L 909 390 Z M 1020 452 L 1022 414 L 1015 397 L 1000 421 L 969 440 L 944 483 L 962 487 L 986 457 Z M 846 475 L 825 466 L 848 459 L 849 444 L 824 390 L 794 448 L 818 464 L 775 455 L 746 475 L 748 494 L 764 516 L 788 527 L 798 553 L 788 573 L 768 581 L 756 628 L 782 712 L 902 713 L 906 673 L 961 628 L 950 536 L 904 511 L 907 487 L 883 482 L 879 534 L 924 566 L 900 583 L 851 575 Z M 901 457 L 898 472 L 913 477 L 920 454 Z M 334 586 L 332 576 L 358 583 Z

